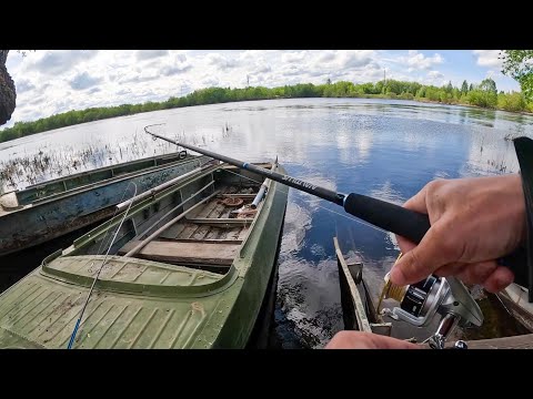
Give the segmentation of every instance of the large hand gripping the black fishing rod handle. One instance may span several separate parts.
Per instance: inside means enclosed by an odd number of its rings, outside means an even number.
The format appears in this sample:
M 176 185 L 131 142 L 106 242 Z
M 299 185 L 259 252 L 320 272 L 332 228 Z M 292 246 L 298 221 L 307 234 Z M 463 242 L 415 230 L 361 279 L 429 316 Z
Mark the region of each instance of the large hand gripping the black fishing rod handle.
M 431 227 L 419 245 L 396 236 L 404 255 L 391 270 L 392 283 L 403 286 L 430 274 L 453 275 L 496 293 L 513 282 L 514 274 L 496 259 L 525 238 L 520 175 L 436 180 L 404 207 L 428 214 Z

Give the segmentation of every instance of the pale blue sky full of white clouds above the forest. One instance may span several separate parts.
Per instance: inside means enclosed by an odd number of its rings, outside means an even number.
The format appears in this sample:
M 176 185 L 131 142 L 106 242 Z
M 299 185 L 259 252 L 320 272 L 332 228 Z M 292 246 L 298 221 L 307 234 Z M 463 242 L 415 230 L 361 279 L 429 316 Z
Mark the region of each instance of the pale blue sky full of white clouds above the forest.
M 519 91 L 501 73 L 499 50 L 37 50 L 10 51 L 17 85 L 11 120 L 34 121 L 70 110 L 164 101 L 194 90 L 273 88 L 386 79 L 461 86 L 485 78 Z

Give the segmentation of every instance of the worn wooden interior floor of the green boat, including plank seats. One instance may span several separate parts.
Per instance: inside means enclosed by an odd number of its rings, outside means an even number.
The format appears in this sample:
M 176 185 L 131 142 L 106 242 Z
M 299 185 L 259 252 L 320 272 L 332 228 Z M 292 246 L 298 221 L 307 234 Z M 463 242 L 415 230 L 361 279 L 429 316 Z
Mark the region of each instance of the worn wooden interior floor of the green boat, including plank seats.
M 134 257 L 225 274 L 259 212 L 251 204 L 259 185 L 227 186 L 147 244 Z M 125 255 L 140 241 L 119 249 Z

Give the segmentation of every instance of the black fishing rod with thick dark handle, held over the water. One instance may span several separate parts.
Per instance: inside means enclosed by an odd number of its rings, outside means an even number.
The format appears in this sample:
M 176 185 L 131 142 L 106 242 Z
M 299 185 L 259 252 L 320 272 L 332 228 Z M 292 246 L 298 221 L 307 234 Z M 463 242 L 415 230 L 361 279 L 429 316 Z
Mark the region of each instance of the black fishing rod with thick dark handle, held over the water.
M 419 244 L 424 237 L 425 233 L 431 227 L 428 215 L 420 212 L 408 209 L 403 206 L 388 203 L 385 201 L 372 198 L 366 195 L 350 193 L 336 193 L 328 188 L 319 187 L 314 184 L 304 182 L 300 178 L 291 177 L 261 166 L 242 162 L 225 155 L 217 154 L 209 150 L 199 149 L 191 144 L 180 143 L 175 140 L 162 136 L 157 133 L 148 131 L 149 125 L 144 127 L 144 132 L 155 137 L 164 140 L 169 143 L 182 146 L 184 149 L 198 152 L 200 154 L 211 156 L 212 158 L 225 162 L 230 165 L 237 166 L 257 173 L 261 176 L 271 178 L 275 182 L 282 183 L 290 187 L 303 191 L 311 195 L 318 196 L 322 200 L 340 205 L 344 211 L 360 219 L 371 223 L 374 226 L 381 227 L 388 232 L 398 234 Z M 521 286 L 529 286 L 527 273 L 527 254 L 525 248 L 520 247 L 512 254 L 509 254 L 500 259 L 499 264 L 509 267 L 515 275 L 514 282 Z

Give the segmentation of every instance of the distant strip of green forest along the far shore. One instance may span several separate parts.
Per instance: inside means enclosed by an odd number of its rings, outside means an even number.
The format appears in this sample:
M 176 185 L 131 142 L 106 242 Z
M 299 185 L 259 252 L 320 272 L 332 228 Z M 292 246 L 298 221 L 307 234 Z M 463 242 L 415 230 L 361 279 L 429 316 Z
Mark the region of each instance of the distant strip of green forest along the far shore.
M 123 104 L 118 106 L 90 108 L 82 111 L 69 111 L 43 117 L 33 122 L 17 122 L 12 127 L 0 131 L 0 142 L 44 132 L 79 123 L 103 120 L 108 117 L 132 115 L 140 112 L 168 110 L 182 106 L 225 103 L 232 101 L 299 99 L 299 98 L 365 98 L 398 99 L 439 102 L 443 104 L 467 104 L 486 109 L 499 109 L 511 112 L 533 112 L 533 102 L 526 102 L 520 92 L 497 92 L 496 83 L 485 79 L 480 84 L 463 81 L 461 88 L 447 83 L 441 88 L 423 85 L 416 82 L 395 80 L 376 83 L 354 84 L 341 81 L 324 84 L 312 83 L 284 85 L 280 88 L 249 86 L 245 89 L 209 88 L 197 90 L 185 96 L 171 96 L 162 102 L 144 104 Z

